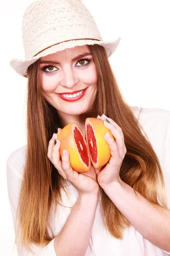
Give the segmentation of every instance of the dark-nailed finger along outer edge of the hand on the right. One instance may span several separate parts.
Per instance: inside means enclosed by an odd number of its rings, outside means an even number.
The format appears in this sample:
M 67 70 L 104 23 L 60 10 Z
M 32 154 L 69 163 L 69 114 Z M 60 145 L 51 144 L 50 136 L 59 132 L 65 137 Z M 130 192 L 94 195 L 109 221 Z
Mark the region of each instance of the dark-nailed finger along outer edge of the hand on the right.
M 112 123 L 109 124 L 108 122 L 104 121 L 104 125 L 111 131 L 111 134 L 115 138 L 115 142 L 116 142 L 116 144 L 119 148 L 120 154 L 121 154 L 121 151 L 124 150 L 124 147 L 125 147 L 125 140 L 124 140 L 123 133 L 121 133 L 116 128 L 116 126 L 113 125 Z

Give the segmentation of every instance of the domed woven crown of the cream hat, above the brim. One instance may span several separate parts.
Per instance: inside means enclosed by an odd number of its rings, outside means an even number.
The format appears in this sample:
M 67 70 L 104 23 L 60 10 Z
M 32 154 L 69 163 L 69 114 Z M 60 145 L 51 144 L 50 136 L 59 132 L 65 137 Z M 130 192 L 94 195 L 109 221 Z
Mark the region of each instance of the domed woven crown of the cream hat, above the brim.
M 25 58 L 51 45 L 74 39 L 102 41 L 95 20 L 81 0 L 39 0 L 23 15 Z

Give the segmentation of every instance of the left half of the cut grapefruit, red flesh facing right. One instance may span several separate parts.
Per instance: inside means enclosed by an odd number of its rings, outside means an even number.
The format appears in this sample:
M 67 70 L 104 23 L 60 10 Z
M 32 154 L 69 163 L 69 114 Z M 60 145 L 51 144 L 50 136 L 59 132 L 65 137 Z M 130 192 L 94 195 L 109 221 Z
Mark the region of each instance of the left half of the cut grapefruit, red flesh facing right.
M 59 133 L 60 157 L 62 150 L 69 152 L 70 166 L 76 172 L 89 172 L 91 169 L 91 160 L 88 153 L 85 137 L 76 123 L 66 125 Z

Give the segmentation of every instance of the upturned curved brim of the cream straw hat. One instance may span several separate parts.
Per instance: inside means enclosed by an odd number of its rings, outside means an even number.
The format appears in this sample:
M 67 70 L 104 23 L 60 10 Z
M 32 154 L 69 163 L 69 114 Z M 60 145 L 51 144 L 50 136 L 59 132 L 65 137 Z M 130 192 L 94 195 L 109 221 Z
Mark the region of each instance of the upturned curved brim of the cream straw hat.
M 73 48 L 76 46 L 82 46 L 86 44 L 99 44 L 102 45 L 107 53 L 108 58 L 115 52 L 116 48 L 119 45 L 121 38 L 117 38 L 114 41 L 97 41 L 97 40 L 87 40 L 87 39 L 81 39 L 81 40 L 71 40 L 71 41 L 66 41 L 62 42 L 60 44 L 56 44 L 54 46 L 51 46 L 44 51 L 40 52 L 38 55 L 32 58 L 28 58 L 26 60 L 19 60 L 17 58 L 12 58 L 10 61 L 11 67 L 20 75 L 20 76 L 25 76 L 28 67 L 37 61 L 39 58 L 47 56 L 49 54 L 53 54 L 55 52 L 59 52 L 68 48 Z

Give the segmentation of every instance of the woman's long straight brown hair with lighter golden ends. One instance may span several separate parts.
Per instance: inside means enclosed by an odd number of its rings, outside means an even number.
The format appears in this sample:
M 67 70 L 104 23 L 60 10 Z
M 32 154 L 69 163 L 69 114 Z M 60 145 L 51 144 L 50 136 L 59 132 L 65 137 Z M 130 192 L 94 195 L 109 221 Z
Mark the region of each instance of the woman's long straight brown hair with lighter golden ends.
M 97 70 L 98 91 L 94 103 L 94 116 L 105 115 L 121 128 L 127 153 L 120 169 L 121 179 L 141 193 L 152 204 L 168 209 L 161 166 L 142 126 L 123 99 L 104 47 L 87 45 L 93 55 Z M 42 96 L 39 81 L 40 59 L 28 67 L 27 145 L 26 162 L 20 189 L 18 230 L 22 245 L 29 243 L 45 246 L 54 234 L 49 233 L 51 207 L 55 212 L 60 204 L 63 188 L 67 183 L 47 157 L 48 142 L 57 128 L 62 128 L 56 109 Z M 123 230 L 130 227 L 129 221 L 116 208 L 103 189 L 101 212 L 105 227 L 111 236 L 122 239 Z M 17 230 L 17 234 L 18 234 Z M 17 234 L 15 242 L 17 241 Z

